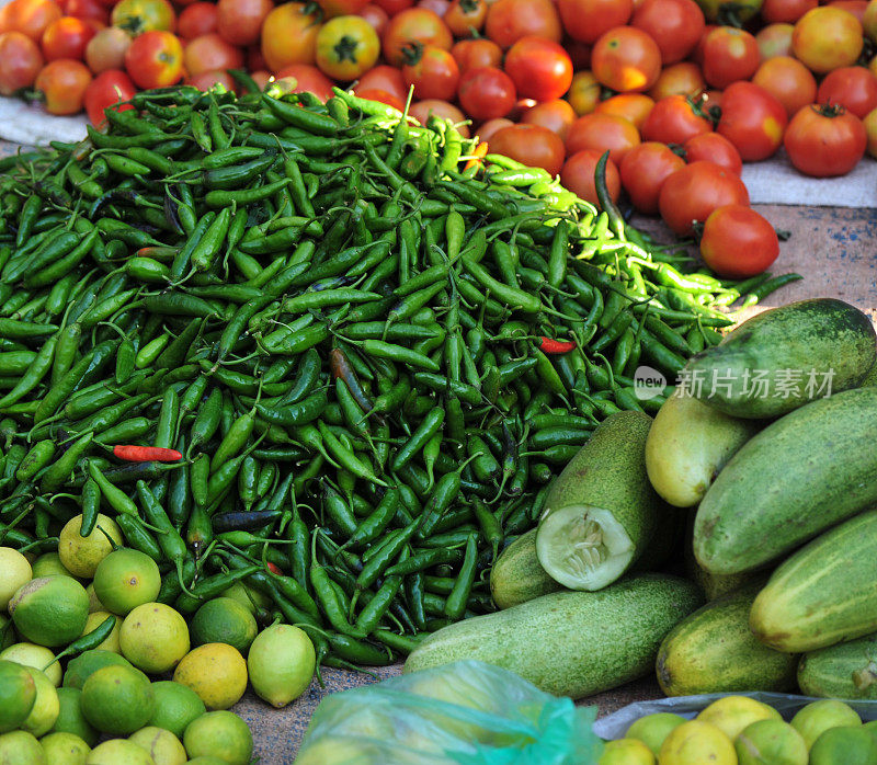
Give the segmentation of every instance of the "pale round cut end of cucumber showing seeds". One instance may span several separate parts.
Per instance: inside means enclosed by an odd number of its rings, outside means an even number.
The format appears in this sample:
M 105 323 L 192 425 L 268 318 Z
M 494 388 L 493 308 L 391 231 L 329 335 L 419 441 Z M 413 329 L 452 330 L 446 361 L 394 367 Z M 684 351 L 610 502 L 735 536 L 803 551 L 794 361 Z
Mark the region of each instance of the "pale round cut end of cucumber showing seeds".
M 548 574 L 570 590 L 602 590 L 634 559 L 635 545 L 613 513 L 592 505 L 553 511 L 539 524 L 536 555 Z

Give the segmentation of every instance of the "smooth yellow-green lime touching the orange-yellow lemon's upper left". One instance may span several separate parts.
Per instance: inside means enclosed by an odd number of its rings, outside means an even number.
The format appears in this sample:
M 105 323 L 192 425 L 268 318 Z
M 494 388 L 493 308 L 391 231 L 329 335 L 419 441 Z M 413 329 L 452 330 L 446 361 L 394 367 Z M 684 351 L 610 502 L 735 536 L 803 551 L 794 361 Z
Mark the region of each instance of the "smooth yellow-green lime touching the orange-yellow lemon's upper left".
M 144 603 L 125 617 L 118 644 L 122 655 L 144 672 L 168 672 L 189 652 L 189 627 L 170 606 Z

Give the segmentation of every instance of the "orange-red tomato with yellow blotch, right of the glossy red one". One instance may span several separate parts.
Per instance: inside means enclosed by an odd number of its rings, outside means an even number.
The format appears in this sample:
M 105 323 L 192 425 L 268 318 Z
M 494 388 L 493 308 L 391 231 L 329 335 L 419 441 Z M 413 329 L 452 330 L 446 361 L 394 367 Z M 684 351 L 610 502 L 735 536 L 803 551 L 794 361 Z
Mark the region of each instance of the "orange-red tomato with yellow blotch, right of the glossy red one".
M 594 44 L 591 70 L 599 82 L 619 93 L 648 90 L 661 73 L 661 50 L 641 30 L 616 26 Z

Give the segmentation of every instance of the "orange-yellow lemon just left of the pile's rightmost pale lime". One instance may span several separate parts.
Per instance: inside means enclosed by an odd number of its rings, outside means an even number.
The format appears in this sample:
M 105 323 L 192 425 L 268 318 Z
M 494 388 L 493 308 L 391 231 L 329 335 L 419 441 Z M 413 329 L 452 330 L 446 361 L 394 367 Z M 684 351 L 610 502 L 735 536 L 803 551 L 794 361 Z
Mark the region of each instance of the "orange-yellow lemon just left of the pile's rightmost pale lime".
M 173 680 L 192 688 L 207 709 L 228 709 L 247 689 L 247 662 L 231 646 L 205 643 L 183 656 Z

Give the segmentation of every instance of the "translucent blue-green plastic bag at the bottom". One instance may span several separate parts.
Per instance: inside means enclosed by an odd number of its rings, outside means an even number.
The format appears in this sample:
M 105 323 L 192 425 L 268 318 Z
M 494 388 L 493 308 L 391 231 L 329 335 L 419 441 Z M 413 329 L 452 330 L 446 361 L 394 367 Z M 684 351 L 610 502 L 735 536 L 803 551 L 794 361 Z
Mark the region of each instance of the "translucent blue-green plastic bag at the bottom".
M 296 765 L 595 765 L 596 707 L 463 661 L 324 698 Z

